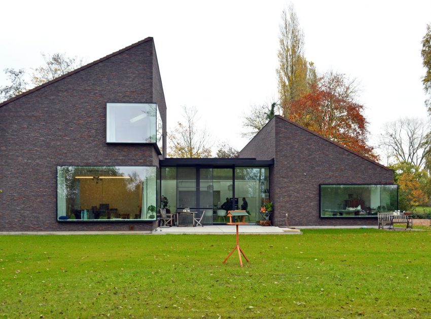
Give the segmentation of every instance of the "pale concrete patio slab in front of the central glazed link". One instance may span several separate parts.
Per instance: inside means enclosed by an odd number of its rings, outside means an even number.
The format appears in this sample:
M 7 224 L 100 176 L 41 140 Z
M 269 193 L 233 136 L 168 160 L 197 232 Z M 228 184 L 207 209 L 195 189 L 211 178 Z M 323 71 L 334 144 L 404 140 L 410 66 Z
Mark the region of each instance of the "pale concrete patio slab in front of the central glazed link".
M 240 234 L 278 234 L 278 235 L 299 235 L 302 232 L 299 229 L 280 228 L 274 226 L 259 225 L 239 225 Z M 235 234 L 236 227 L 233 225 L 204 225 L 202 226 L 185 226 L 185 227 L 157 227 L 154 234 Z

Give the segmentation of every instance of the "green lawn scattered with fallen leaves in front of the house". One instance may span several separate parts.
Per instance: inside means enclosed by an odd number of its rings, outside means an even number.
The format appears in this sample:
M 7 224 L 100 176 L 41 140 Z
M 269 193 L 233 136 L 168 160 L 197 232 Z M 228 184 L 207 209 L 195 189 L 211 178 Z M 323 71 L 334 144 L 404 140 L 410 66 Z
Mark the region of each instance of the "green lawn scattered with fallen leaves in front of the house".
M 0 236 L 2 317 L 429 317 L 431 231 Z

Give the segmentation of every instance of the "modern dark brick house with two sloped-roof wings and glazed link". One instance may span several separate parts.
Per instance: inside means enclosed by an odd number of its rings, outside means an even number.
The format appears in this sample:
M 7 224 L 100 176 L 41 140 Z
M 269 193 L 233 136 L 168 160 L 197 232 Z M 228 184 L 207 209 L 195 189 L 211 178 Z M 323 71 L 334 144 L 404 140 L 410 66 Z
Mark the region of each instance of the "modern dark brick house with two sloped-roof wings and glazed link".
M 225 202 L 254 223 L 271 201 L 277 226 L 375 225 L 398 208 L 391 170 L 281 116 L 239 158 L 165 145 L 151 37 L 0 103 L 0 231 L 153 230 L 162 206 L 224 223 Z

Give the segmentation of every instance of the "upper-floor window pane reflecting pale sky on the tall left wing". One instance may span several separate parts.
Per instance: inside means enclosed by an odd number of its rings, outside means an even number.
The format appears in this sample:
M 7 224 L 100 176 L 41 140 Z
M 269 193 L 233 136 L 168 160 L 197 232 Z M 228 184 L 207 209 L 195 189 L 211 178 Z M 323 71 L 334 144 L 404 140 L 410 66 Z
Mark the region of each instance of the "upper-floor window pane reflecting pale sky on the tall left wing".
M 155 143 L 155 103 L 107 103 L 106 142 Z

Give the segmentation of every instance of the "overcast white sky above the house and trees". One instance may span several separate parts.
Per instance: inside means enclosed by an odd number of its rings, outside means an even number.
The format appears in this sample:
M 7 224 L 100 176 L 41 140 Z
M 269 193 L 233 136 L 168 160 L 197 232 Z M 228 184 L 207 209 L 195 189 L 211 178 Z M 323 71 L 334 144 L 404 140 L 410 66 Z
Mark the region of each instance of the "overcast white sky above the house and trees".
M 168 107 L 196 106 L 215 141 L 241 149 L 250 105 L 278 99 L 278 34 L 288 1 L 8 1 L 0 3 L 0 70 L 43 64 L 41 52 L 99 59 L 153 36 Z M 305 55 L 319 72 L 356 77 L 371 140 L 382 124 L 426 117 L 421 39 L 431 1 L 293 1 Z M 0 74 L 0 86 L 6 84 Z M 214 145 L 217 146 L 217 142 Z

